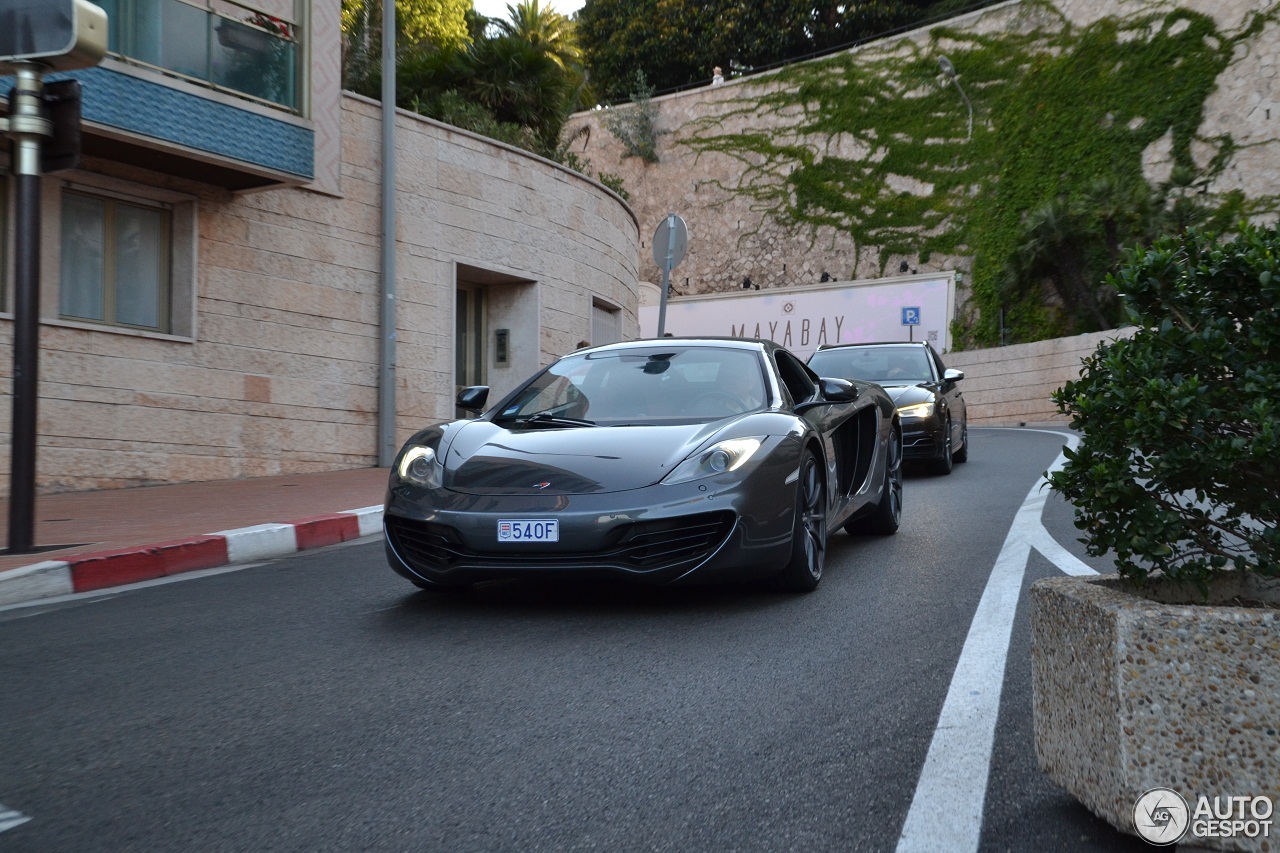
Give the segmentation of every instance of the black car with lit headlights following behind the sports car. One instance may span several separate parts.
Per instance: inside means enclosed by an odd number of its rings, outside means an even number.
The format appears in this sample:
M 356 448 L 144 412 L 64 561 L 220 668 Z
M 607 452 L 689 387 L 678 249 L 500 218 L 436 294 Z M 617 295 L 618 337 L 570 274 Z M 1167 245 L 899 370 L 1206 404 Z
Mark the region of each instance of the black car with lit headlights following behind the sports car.
M 956 384 L 964 373 L 948 370 L 928 343 L 837 343 L 809 356 L 809 366 L 883 386 L 902 419 L 908 461 L 950 474 L 952 462 L 969 460 L 969 416 Z

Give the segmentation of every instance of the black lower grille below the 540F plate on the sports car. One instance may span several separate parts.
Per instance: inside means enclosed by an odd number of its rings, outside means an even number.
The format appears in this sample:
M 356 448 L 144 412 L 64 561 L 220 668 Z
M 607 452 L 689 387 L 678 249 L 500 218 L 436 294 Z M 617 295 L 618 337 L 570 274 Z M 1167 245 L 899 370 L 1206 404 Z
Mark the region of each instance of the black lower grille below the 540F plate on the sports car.
M 732 512 L 704 512 L 620 525 L 596 551 L 522 552 L 518 556 L 468 548 L 453 528 L 387 516 L 387 538 L 411 569 L 458 567 L 568 570 L 613 567 L 658 571 L 692 567 L 716 552 L 733 528 Z

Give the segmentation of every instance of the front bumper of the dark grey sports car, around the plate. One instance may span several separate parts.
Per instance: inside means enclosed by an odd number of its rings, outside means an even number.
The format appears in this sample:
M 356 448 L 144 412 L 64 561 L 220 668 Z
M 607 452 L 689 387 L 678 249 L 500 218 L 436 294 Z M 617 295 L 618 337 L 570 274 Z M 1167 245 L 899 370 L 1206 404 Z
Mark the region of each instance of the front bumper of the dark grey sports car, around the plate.
M 596 494 L 467 494 L 394 482 L 383 514 L 392 569 L 442 587 L 530 576 L 646 584 L 746 580 L 791 556 L 792 474 L 707 478 Z M 498 542 L 499 519 L 556 519 L 558 542 Z

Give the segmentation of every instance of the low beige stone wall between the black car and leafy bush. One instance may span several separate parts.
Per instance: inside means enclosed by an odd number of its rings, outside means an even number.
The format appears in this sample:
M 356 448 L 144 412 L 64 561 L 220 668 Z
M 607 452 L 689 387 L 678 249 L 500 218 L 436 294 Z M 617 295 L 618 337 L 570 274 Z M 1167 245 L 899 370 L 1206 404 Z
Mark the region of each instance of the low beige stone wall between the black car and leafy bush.
M 1080 375 L 1080 361 L 1100 343 L 1133 330 L 1097 332 L 1070 338 L 1018 343 L 991 350 L 950 352 L 948 368 L 964 370 L 960 387 L 973 425 L 1061 423 L 1048 396 Z

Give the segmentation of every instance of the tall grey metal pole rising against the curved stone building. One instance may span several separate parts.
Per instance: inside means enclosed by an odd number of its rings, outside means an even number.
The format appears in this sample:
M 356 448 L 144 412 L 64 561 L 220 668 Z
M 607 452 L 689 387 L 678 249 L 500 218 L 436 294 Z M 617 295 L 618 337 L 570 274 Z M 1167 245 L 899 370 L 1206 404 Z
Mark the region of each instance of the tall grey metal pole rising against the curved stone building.
M 396 4 L 383 3 L 383 282 L 378 466 L 396 461 Z

